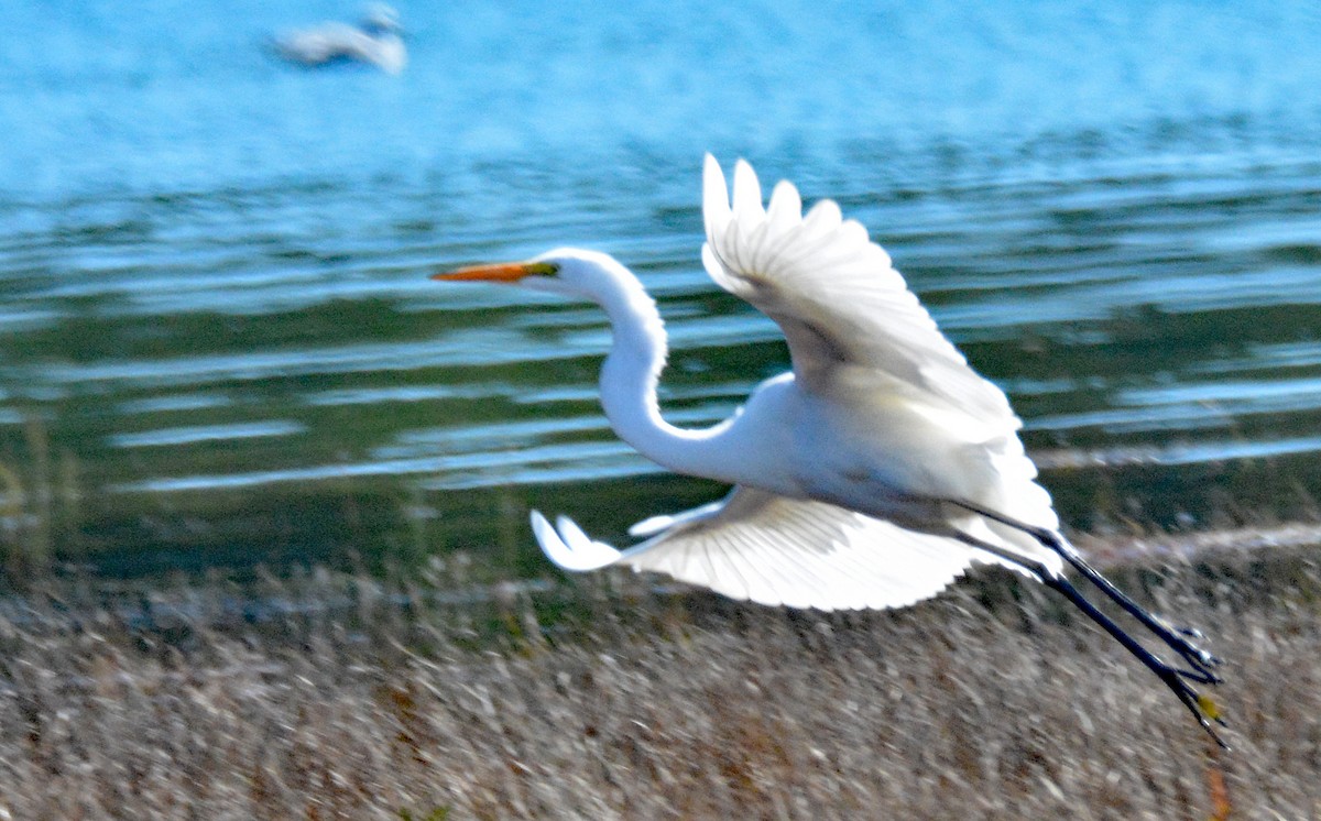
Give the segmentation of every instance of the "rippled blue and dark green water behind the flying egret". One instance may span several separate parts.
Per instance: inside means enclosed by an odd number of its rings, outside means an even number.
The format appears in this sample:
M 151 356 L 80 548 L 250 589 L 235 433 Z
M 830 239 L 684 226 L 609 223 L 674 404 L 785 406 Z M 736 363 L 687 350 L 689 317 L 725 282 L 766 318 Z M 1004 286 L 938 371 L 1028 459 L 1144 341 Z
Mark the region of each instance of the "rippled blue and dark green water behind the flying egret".
M 0 55 L 5 537 L 111 573 L 543 572 L 721 488 L 609 430 L 602 314 L 427 280 L 560 244 L 658 296 L 675 422 L 785 368 L 700 268 L 704 150 L 832 197 L 1026 424 L 1075 527 L 1321 496 L 1321 17 L 1306 5 L 400 4 L 411 63 L 304 71 L 332 4 L 21 4 Z

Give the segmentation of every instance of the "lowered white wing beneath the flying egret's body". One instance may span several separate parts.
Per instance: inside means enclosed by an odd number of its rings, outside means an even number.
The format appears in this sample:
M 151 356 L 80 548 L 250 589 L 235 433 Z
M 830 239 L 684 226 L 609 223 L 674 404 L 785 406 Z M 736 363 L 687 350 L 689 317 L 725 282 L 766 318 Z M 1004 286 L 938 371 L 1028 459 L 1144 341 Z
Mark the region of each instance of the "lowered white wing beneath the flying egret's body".
M 999 562 L 963 542 L 826 504 L 736 487 L 724 500 L 634 527 L 651 539 L 616 550 L 572 520 L 538 512 L 542 549 L 567 570 L 624 564 L 762 605 L 860 610 L 930 598 L 972 561 Z

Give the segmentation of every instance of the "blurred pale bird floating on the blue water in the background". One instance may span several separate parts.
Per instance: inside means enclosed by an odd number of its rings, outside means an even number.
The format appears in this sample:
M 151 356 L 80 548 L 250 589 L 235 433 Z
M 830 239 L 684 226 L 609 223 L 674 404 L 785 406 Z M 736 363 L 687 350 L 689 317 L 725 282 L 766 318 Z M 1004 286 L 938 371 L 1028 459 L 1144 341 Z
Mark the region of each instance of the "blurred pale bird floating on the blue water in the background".
M 271 44 L 284 59 L 301 66 L 328 66 L 359 62 L 399 74 L 408 62 L 399 25 L 399 12 L 383 3 L 367 7 L 357 26 L 346 22 L 322 22 L 295 29 Z

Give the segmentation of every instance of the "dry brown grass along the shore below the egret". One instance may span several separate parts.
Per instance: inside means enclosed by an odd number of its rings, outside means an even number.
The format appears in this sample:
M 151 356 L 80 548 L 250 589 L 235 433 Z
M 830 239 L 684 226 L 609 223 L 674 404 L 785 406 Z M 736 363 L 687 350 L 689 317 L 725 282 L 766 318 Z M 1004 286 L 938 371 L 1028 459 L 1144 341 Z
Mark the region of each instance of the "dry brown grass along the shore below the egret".
M 267 623 L 181 589 L 217 618 L 148 631 L 46 598 L 0 622 L 0 817 L 1321 817 L 1316 557 L 1122 574 L 1230 660 L 1219 755 L 1004 575 L 836 616 L 614 579 L 513 595 L 494 631 L 351 581 L 353 607 Z

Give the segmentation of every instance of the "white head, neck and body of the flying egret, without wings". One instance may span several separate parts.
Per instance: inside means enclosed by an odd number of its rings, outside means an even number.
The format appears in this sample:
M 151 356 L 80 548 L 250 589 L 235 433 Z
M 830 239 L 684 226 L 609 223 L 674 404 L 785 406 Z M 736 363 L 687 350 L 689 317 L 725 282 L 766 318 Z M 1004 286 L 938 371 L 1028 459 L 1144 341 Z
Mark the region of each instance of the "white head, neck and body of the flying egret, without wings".
M 1017 418 L 987 424 L 888 384 L 894 380 L 865 367 L 839 366 L 810 384 L 786 372 L 758 385 L 737 414 L 715 428 L 671 428 L 657 405 L 666 351 L 655 304 L 606 255 L 560 249 L 543 259 L 563 264 L 571 257 L 606 272 L 612 289 L 627 282 L 621 288 L 625 300 L 604 304 L 616 337 L 601 370 L 601 403 L 614 430 L 654 462 L 782 496 L 831 502 L 915 529 L 948 524 L 937 511 L 939 500 L 974 502 L 1055 527 L 1049 496 L 1034 484 L 1036 469 L 1018 443 Z M 1024 506 L 1020 496 L 1034 506 Z M 967 511 L 955 516 L 963 519 Z M 1028 549 L 1040 545 L 1032 540 Z

